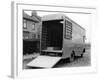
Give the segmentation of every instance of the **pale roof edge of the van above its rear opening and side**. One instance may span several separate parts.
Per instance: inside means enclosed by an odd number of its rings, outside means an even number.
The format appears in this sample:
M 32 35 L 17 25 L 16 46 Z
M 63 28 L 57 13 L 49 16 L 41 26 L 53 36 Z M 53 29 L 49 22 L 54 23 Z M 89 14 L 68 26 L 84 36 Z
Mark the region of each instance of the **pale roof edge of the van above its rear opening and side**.
M 64 19 L 64 18 L 67 19 L 67 20 L 69 20 L 69 21 L 71 21 L 72 23 L 75 23 L 80 28 L 82 28 L 83 30 L 85 30 L 78 23 L 76 23 L 75 21 L 73 21 L 72 19 L 70 19 L 68 16 L 66 16 L 64 14 L 50 14 L 50 15 L 45 15 L 41 19 L 42 19 L 42 21 L 49 21 L 49 20 L 59 20 L 59 19 Z

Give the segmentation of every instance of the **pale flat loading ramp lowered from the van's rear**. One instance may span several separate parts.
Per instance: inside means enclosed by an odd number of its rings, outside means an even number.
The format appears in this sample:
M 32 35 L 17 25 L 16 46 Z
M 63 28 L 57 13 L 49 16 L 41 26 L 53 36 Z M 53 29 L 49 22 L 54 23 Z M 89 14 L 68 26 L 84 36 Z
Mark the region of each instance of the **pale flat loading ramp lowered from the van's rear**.
M 38 56 L 33 61 L 27 64 L 30 67 L 45 67 L 51 68 L 53 67 L 61 57 L 53 57 L 53 56 Z

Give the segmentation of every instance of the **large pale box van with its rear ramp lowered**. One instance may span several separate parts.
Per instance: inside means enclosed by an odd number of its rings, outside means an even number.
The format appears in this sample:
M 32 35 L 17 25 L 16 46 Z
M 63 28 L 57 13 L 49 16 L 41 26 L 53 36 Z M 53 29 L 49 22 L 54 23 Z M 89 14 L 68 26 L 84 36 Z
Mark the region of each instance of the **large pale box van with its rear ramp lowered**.
M 83 57 L 85 52 L 85 29 L 64 14 L 42 17 L 40 56 L 28 63 L 31 67 L 53 67 L 59 60 L 75 56 Z

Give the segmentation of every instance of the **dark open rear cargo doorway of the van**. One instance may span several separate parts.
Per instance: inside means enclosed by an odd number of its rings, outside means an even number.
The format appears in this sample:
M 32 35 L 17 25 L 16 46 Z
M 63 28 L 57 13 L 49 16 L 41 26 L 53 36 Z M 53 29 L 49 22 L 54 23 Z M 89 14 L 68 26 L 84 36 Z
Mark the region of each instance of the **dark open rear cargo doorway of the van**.
M 62 53 L 63 20 L 48 20 L 42 22 L 41 54 L 55 55 Z M 61 56 L 62 54 L 56 54 Z

